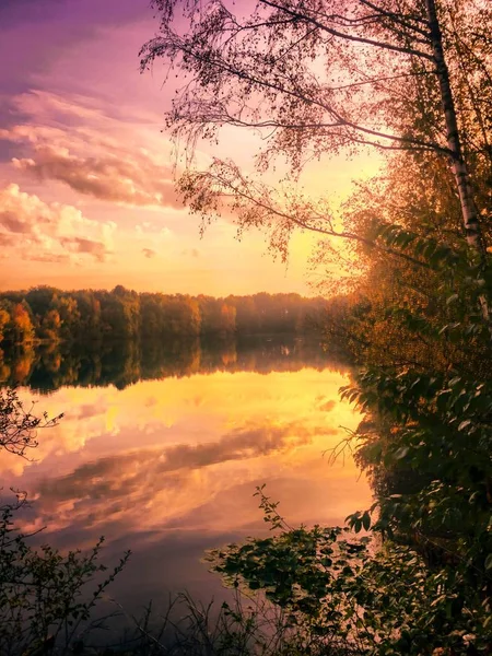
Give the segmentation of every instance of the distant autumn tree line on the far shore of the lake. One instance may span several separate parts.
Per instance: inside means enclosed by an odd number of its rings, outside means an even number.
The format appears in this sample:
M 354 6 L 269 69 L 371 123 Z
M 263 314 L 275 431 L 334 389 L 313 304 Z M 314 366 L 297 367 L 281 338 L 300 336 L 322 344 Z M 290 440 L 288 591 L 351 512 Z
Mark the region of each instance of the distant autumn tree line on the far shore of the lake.
M 113 291 L 66 292 L 51 286 L 0 293 L 0 342 L 164 339 L 311 330 L 321 297 L 298 294 L 189 296 Z

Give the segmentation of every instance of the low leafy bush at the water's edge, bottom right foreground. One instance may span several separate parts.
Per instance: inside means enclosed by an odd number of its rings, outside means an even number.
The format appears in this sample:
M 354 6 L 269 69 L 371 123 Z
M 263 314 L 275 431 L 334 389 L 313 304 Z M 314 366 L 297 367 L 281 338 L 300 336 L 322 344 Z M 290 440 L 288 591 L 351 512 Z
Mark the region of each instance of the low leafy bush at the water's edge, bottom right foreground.
M 266 520 L 280 532 L 213 550 L 208 560 L 229 585 L 263 589 L 284 611 L 295 653 L 468 654 L 470 645 L 473 653 L 490 646 L 490 601 L 453 569 L 432 571 L 414 549 L 356 539 L 348 528 L 290 528 L 259 492 Z M 370 528 L 368 513 L 352 519 Z

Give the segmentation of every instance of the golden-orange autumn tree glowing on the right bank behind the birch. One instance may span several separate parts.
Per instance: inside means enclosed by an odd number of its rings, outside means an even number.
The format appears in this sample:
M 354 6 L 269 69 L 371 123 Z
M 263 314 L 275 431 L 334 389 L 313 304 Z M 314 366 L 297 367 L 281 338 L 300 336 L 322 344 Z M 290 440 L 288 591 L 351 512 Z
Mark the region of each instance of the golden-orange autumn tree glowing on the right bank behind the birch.
M 467 332 L 449 339 L 441 330 L 458 320 L 456 292 L 462 289 L 462 274 L 469 276 L 466 268 L 443 270 L 440 266 L 441 256 L 445 261 L 446 254 L 459 253 L 462 242 L 459 200 L 444 163 L 400 153 L 391 157 L 388 171 L 356 186 L 343 213 L 348 229 L 367 241 L 375 238 L 382 223 L 398 224 L 401 238 L 412 237 L 413 250 L 422 257 L 413 266 L 352 242 L 349 261 L 356 261 L 363 276 L 352 293 L 338 304 L 330 302 L 325 319 L 328 337 L 345 341 L 355 360 L 365 364 L 441 371 L 459 364 L 469 372 L 485 373 L 487 342 L 479 345 Z M 329 250 L 320 248 L 315 257 L 327 267 L 332 265 Z M 336 292 L 329 280 L 321 280 L 320 285 Z

